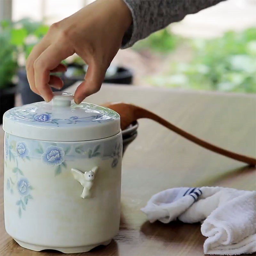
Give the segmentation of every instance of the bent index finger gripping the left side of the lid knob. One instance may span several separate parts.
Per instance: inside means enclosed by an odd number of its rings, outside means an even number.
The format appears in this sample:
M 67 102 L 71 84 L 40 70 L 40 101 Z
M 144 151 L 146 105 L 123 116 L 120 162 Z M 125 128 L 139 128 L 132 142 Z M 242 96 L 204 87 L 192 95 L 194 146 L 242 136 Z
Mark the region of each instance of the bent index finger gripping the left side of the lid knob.
M 46 102 L 52 100 L 53 93 L 49 85 L 51 70 L 60 69 L 60 62 L 74 54 L 67 44 L 51 44 L 34 62 L 35 85 Z M 61 67 L 62 68 L 62 67 Z M 54 82 L 57 80 L 55 79 Z M 59 83 L 59 82 L 58 82 Z

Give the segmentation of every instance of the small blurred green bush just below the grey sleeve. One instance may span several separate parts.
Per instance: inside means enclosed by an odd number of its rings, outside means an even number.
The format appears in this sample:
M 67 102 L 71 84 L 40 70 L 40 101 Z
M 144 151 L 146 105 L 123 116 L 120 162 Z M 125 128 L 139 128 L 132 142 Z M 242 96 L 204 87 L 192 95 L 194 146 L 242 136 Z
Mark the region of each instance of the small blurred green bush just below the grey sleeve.
M 170 52 L 174 50 L 180 41 L 180 37 L 172 34 L 168 28 L 159 30 L 146 39 L 138 41 L 132 47 L 135 51 L 150 49 L 154 52 Z

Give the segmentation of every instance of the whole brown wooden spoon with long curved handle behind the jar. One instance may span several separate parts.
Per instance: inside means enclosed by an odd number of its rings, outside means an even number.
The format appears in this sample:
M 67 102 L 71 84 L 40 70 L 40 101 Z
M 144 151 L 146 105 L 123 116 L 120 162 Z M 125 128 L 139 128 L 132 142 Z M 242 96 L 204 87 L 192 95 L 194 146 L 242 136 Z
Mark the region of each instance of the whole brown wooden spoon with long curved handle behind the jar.
M 126 103 L 106 103 L 103 106 L 111 108 L 115 110 L 121 117 L 121 129 L 126 129 L 130 124 L 132 124 L 134 121 L 140 119 L 140 118 L 149 118 L 151 120 L 156 121 L 159 124 L 164 125 L 166 128 L 172 130 L 173 132 L 176 132 L 183 136 L 184 138 L 193 141 L 197 145 L 207 148 L 215 153 L 218 153 L 223 156 L 227 156 L 229 158 L 235 159 L 237 161 L 244 162 L 246 164 L 255 166 L 256 165 L 256 159 L 252 158 L 250 156 L 244 156 L 237 153 L 234 153 L 232 151 L 217 147 L 209 142 L 206 142 L 204 140 L 201 140 L 197 138 L 196 136 L 183 131 L 179 127 L 169 123 L 164 118 L 157 116 L 156 114 L 148 111 L 147 109 L 140 108 L 137 106 L 134 106 L 132 104 L 126 104 Z

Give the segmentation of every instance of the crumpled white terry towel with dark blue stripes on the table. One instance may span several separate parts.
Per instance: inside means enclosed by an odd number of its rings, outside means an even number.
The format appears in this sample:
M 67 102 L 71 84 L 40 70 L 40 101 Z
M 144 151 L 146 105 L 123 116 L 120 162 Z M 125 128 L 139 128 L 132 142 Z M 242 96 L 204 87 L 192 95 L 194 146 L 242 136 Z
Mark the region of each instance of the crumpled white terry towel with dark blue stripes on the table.
M 171 188 L 152 196 L 141 211 L 150 222 L 202 222 L 205 254 L 256 252 L 256 191 Z

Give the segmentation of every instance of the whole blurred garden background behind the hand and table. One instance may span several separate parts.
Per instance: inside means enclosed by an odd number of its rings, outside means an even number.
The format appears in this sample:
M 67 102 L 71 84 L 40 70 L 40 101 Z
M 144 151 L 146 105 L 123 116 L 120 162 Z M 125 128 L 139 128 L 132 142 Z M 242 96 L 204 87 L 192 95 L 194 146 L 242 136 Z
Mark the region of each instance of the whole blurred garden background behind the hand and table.
M 107 0 L 106 0 L 107 1 Z M 49 26 L 92 0 L 0 0 L 1 116 L 14 99 L 41 101 L 30 91 L 24 65 Z M 120 50 L 106 83 L 182 90 L 256 92 L 256 0 L 227 0 L 173 23 Z M 86 17 L 84 17 L 86 19 Z M 78 56 L 64 61 L 64 89 L 82 80 Z M 2 118 L 1 118 L 2 119 Z

